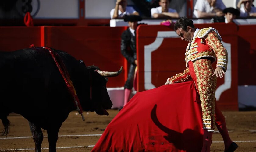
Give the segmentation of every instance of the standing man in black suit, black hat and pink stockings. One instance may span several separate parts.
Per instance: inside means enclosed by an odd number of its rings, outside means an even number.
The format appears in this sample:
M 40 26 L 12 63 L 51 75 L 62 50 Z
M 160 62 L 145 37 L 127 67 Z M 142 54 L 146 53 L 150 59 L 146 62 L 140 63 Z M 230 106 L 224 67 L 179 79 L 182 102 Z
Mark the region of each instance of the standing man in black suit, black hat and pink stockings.
M 138 21 L 141 20 L 142 18 L 137 15 L 127 15 L 124 17 L 124 21 L 128 22 L 129 28 L 125 30 L 121 36 L 121 53 L 130 63 L 128 78 L 124 85 L 124 106 L 129 101 L 133 87 L 134 72 L 137 66 L 136 29 Z

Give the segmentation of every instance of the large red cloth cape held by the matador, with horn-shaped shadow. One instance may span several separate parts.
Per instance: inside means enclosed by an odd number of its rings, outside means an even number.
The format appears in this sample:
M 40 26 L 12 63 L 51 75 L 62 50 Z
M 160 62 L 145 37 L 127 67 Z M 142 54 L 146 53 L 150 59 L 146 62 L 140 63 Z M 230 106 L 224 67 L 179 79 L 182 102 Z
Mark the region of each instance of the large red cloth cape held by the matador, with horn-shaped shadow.
M 195 89 L 188 81 L 138 92 L 92 151 L 201 151 L 201 104 Z

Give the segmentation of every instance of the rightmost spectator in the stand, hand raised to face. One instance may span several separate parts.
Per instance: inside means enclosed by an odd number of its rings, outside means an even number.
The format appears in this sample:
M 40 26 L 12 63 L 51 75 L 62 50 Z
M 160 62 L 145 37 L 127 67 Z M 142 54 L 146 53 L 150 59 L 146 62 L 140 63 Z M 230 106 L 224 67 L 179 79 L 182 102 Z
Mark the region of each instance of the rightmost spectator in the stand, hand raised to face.
M 253 1 L 240 0 L 238 2 L 237 8 L 240 9 L 240 17 L 256 17 L 256 8 L 252 5 Z

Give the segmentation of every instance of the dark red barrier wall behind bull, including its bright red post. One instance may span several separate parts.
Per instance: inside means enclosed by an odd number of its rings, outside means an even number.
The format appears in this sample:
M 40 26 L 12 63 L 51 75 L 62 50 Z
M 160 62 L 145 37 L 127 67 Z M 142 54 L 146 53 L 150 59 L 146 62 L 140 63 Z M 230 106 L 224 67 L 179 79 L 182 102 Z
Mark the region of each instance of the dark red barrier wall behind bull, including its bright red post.
M 0 46 L 3 51 L 13 51 L 35 46 L 47 46 L 66 51 L 88 65 L 103 71 L 117 71 L 124 66 L 120 52 L 121 34 L 126 27 L 106 26 L 38 26 L 0 27 Z M 126 66 L 127 67 L 127 66 Z M 109 78 L 107 87 L 122 87 L 125 72 Z

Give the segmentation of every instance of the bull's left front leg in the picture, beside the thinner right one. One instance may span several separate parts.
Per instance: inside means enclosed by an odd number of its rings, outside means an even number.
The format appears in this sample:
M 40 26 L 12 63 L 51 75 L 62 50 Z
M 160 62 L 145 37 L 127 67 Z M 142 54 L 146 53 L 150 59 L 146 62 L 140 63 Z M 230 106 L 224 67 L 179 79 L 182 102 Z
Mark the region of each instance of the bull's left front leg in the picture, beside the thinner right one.
M 30 126 L 32 137 L 33 137 L 33 139 L 35 141 L 35 145 L 36 145 L 35 152 L 41 152 L 41 144 L 44 139 L 41 127 L 36 126 L 34 123 L 31 123 L 30 121 L 28 123 Z

